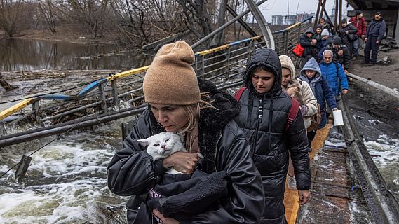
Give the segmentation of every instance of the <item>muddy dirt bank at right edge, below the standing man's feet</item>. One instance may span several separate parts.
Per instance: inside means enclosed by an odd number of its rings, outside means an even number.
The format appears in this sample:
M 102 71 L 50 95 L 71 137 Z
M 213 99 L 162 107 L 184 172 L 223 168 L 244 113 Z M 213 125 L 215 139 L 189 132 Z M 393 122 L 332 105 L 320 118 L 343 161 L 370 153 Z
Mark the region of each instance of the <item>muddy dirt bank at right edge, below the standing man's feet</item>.
M 367 66 L 363 57 L 351 62 L 350 72 L 386 87 L 399 89 L 399 50 L 379 52 L 378 59 L 391 57 L 392 64 Z M 399 96 L 399 92 L 398 92 Z M 399 137 L 399 99 L 358 80 L 349 83 L 346 102 L 363 137 L 377 139 L 379 134 Z M 374 121 L 373 121 L 374 120 Z

